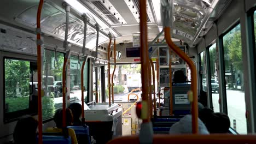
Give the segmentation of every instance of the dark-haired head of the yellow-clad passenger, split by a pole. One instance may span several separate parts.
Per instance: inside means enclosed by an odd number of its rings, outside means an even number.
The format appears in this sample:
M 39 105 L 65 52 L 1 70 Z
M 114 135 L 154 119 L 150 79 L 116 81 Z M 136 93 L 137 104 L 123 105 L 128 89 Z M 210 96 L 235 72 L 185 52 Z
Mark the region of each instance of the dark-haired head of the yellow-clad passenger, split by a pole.
M 56 123 L 57 128 L 62 128 L 62 109 L 58 109 L 54 115 L 54 122 Z M 73 114 L 70 109 L 66 109 L 66 125 L 72 125 L 73 123 Z

